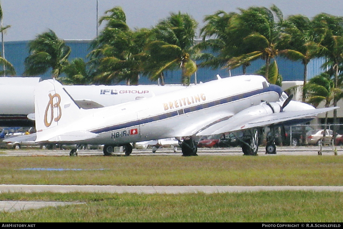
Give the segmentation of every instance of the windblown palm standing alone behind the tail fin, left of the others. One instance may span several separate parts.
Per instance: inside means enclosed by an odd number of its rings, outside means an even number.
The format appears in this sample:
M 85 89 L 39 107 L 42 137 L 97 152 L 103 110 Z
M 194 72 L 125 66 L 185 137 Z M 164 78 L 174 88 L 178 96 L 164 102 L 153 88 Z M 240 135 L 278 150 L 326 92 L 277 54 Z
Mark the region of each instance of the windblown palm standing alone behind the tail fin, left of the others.
M 37 35 L 28 46 L 30 55 L 25 59 L 25 75 L 44 74 L 52 68 L 52 77 L 57 78 L 68 64 L 71 49 L 51 29 Z

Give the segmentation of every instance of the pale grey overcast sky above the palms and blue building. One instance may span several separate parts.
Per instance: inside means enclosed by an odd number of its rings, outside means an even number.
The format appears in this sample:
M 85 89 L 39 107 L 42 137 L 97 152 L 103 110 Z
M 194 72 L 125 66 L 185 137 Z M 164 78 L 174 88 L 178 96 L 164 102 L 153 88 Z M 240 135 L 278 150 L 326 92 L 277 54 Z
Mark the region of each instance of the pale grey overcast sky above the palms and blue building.
M 4 41 L 32 40 L 48 28 L 62 39 L 94 39 L 96 36 L 96 0 L 0 0 Z M 313 17 L 324 12 L 343 16 L 343 0 L 98 0 L 99 17 L 106 10 L 121 6 L 130 28 L 150 28 L 170 12 L 188 13 L 203 26 L 204 15 L 218 10 L 237 11 L 250 6 L 275 4 L 284 17 L 303 14 Z

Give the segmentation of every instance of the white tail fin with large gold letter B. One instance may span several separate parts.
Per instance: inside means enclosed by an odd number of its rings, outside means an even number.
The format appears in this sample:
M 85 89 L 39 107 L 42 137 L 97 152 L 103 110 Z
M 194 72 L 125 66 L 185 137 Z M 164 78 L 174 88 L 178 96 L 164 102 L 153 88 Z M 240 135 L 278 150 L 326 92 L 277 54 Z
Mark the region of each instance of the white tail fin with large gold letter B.
M 36 142 L 47 141 L 67 131 L 66 127 L 80 119 L 83 113 L 63 85 L 55 79 L 40 81 L 34 93 Z

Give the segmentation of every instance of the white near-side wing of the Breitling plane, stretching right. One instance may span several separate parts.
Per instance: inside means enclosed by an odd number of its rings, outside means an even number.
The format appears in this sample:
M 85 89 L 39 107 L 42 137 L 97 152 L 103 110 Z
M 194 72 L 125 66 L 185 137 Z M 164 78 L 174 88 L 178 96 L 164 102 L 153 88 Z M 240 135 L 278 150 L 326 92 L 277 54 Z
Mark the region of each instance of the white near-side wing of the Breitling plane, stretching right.
M 215 123 L 205 129 L 200 130 L 196 136 L 209 136 L 225 132 L 245 130 L 254 127 L 269 126 L 294 119 L 315 118 L 320 113 L 328 112 L 337 108 L 338 107 L 327 107 L 313 110 L 280 112 L 253 119 L 249 119 L 249 117 L 246 115 L 240 115 L 238 113 L 229 119 Z

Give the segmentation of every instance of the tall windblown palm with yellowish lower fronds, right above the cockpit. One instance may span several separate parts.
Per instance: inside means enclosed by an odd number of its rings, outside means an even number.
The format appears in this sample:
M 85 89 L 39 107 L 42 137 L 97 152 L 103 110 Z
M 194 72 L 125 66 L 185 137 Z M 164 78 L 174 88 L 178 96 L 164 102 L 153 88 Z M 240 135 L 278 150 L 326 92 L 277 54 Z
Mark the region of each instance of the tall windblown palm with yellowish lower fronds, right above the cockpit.
M 275 5 L 271 7 L 271 10 L 264 7 L 250 7 L 247 10 L 240 9 L 240 11 L 241 14 L 237 16 L 236 22 L 230 26 L 229 30 L 241 37 L 238 42 L 246 46 L 246 49 L 244 54 L 229 60 L 227 67 L 235 68 L 261 58 L 265 60 L 265 78 L 275 84 L 279 74 L 275 71 L 275 74 L 270 76 L 269 66 L 271 60 L 279 54 L 278 42 L 286 36 L 281 30 L 282 12 Z

